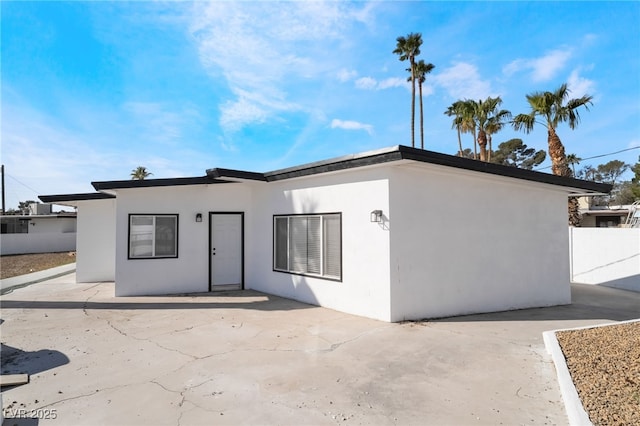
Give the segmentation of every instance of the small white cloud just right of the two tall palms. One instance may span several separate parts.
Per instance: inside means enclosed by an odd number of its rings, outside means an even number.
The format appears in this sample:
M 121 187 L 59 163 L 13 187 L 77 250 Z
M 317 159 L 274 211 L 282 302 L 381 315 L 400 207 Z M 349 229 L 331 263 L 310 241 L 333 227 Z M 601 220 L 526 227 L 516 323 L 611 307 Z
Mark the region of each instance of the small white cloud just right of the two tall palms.
M 491 83 L 480 77 L 475 65 L 466 62 L 458 62 L 445 68 L 433 76 L 433 81 L 454 99 L 482 99 L 493 95 Z

